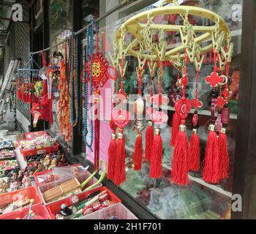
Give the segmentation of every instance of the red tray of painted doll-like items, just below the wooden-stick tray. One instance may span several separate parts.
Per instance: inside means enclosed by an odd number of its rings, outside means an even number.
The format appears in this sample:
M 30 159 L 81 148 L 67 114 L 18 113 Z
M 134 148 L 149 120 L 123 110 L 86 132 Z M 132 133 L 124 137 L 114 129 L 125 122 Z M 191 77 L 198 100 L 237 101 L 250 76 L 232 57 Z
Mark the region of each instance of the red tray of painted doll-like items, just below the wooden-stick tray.
M 89 192 L 82 192 L 80 195 L 78 195 L 80 200 L 85 199 L 86 197 L 88 197 L 88 195 L 94 193 L 94 192 L 103 192 L 103 191 L 107 191 L 108 195 L 110 196 L 110 200 L 113 201 L 114 203 L 121 203 L 121 200 L 116 197 L 116 195 L 113 194 L 113 192 L 111 192 L 109 189 L 107 189 L 106 187 L 100 187 L 100 188 L 96 188 L 96 189 L 92 189 Z M 59 211 L 61 210 L 61 205 L 62 204 L 66 204 L 67 206 L 72 205 L 71 200 L 69 198 L 65 199 L 65 200 L 59 200 L 56 203 L 50 204 L 47 206 L 48 211 L 50 213 L 50 216 L 52 219 L 56 219 L 56 214 L 59 213 Z M 102 211 L 104 211 L 106 208 L 103 208 Z

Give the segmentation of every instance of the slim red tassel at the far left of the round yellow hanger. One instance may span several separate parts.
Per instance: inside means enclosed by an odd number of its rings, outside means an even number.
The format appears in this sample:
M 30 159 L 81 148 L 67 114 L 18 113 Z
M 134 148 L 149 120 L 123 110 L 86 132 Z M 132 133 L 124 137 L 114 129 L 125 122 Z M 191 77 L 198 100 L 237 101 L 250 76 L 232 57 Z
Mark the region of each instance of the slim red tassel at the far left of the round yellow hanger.
M 115 173 L 115 159 L 116 159 L 116 134 L 112 134 L 112 140 L 108 147 L 108 178 L 113 180 Z

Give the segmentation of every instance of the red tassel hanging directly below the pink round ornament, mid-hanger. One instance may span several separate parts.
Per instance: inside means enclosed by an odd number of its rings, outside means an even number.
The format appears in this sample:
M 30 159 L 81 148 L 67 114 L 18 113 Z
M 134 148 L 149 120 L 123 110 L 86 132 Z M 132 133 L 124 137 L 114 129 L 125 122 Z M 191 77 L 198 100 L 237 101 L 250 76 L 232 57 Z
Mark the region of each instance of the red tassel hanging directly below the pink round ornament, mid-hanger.
M 151 178 L 162 177 L 162 137 L 161 130 L 155 130 L 156 135 L 152 145 L 151 165 L 149 176 Z

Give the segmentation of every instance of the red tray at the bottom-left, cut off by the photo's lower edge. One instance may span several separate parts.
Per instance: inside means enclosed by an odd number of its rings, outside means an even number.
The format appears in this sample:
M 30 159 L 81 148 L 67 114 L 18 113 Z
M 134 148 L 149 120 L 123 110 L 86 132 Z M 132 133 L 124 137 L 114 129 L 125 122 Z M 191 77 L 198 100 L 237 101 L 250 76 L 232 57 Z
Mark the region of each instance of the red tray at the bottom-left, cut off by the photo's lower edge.
M 32 211 L 35 214 L 34 219 L 51 219 L 48 209 L 45 205 L 33 205 Z M 0 219 L 27 219 L 26 216 L 29 214 L 29 208 L 24 208 L 20 211 L 13 211 L 10 214 L 3 214 Z

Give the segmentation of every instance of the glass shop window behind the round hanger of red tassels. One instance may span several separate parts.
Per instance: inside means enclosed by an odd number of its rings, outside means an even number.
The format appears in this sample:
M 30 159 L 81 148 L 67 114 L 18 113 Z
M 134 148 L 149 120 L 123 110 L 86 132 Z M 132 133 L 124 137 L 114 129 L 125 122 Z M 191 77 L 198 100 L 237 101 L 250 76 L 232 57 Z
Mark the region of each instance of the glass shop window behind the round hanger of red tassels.
M 158 180 L 149 178 L 149 165 L 147 162 L 143 163 L 143 169 L 140 172 L 135 172 L 132 168 L 132 157 L 134 152 L 134 143 L 136 134 L 133 132 L 134 122 L 130 122 L 125 129 L 126 142 L 126 165 L 127 165 L 127 182 L 121 186 L 125 192 L 135 198 L 140 204 L 148 208 L 151 213 L 159 216 L 160 219 L 230 219 L 231 197 L 233 189 L 233 163 L 236 146 L 236 121 L 238 110 L 238 81 L 240 79 L 240 62 L 241 55 L 241 7 L 242 1 L 200 1 L 195 4 L 194 1 L 185 1 L 183 4 L 196 5 L 204 7 L 208 10 L 216 12 L 224 18 L 230 27 L 232 34 L 232 41 L 234 43 L 233 61 L 230 64 L 230 74 L 228 84 L 232 91 L 232 99 L 230 100 L 230 123 L 227 129 L 228 153 L 230 156 L 230 170 L 229 178 L 222 181 L 219 185 L 207 184 L 202 179 L 202 172 L 189 173 L 189 186 L 181 187 L 170 183 L 170 168 L 171 155 L 173 148 L 170 147 L 170 121 L 174 113 L 174 103 L 165 108 L 169 116 L 169 123 L 165 129 L 162 129 L 163 139 L 163 167 L 164 177 Z M 149 6 L 152 7 L 152 6 Z M 148 9 L 148 8 L 147 8 Z M 144 9 L 145 10 L 145 9 Z M 143 11 L 143 10 L 142 10 Z M 132 15 L 136 15 L 135 12 Z M 101 48 L 108 53 L 113 54 L 113 41 L 116 31 L 119 29 L 125 20 L 132 17 L 122 18 L 118 22 L 105 26 L 100 29 L 99 35 L 101 38 Z M 168 23 L 166 18 L 157 18 L 158 23 Z M 211 22 L 202 21 L 200 18 L 191 18 L 192 23 L 201 26 L 208 26 Z M 126 38 L 129 42 L 129 38 Z M 178 34 L 168 35 L 168 46 L 175 47 L 180 43 L 180 36 Z M 211 88 L 206 85 L 204 78 L 211 74 L 213 69 L 213 53 L 207 53 L 203 61 L 203 69 L 200 71 L 200 81 L 198 87 L 200 88 L 199 99 L 204 103 L 203 107 L 198 110 L 200 114 L 199 129 L 201 138 L 201 163 L 206 148 L 206 141 L 208 136 L 208 124 L 211 121 Z M 138 94 L 138 78 L 136 74 L 136 67 L 138 66 L 137 59 L 132 56 L 127 59 L 128 69 L 124 80 L 124 89 L 127 94 Z M 193 99 L 195 95 L 195 67 L 188 66 L 189 85 L 187 86 L 187 95 L 189 99 Z M 178 95 L 176 88 L 178 72 L 170 66 L 164 68 L 164 78 L 162 82 L 162 93 L 167 95 L 170 100 L 175 99 Z M 150 75 L 146 72 L 143 76 L 143 94 L 148 94 L 150 89 Z M 154 94 L 157 94 L 157 80 L 154 82 Z M 106 100 L 108 102 L 110 100 Z M 129 99 L 129 110 L 133 110 L 134 101 Z M 187 121 L 188 136 L 192 135 L 192 118 L 189 115 Z M 102 122 L 102 126 L 108 126 L 107 122 Z M 106 142 L 110 139 L 111 132 L 102 132 L 102 139 Z M 106 140 L 107 139 L 107 140 Z M 101 141 L 104 145 L 104 140 Z M 143 142 L 145 146 L 145 142 Z M 104 147 L 102 147 L 104 148 Z M 93 161 L 90 153 L 89 159 Z M 108 154 L 107 149 L 101 150 L 102 155 Z M 102 156 L 103 157 L 103 156 Z

